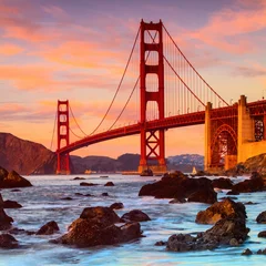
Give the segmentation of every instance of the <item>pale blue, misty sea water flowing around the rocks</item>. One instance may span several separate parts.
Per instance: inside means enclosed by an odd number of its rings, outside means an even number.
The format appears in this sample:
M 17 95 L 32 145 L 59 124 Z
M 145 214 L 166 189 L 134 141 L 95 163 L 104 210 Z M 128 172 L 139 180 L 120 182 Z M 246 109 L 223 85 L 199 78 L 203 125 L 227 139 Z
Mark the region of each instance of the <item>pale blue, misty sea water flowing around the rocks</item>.
M 247 227 L 249 237 L 245 244 L 237 247 L 219 247 L 215 250 L 174 253 L 167 252 L 165 246 L 154 246 L 158 241 L 167 241 L 172 234 L 203 232 L 211 225 L 198 225 L 195 217 L 198 211 L 208 207 L 203 203 L 168 204 L 170 200 L 155 200 L 150 196 L 139 197 L 140 188 L 161 177 L 140 177 L 130 175 L 109 175 L 101 178 L 99 175 L 79 175 L 99 184 L 98 186 L 80 186 L 73 181 L 74 175 L 68 176 L 27 176 L 34 185 L 21 188 L 20 192 L 2 190 L 4 200 L 19 202 L 20 209 L 6 209 L 13 217 L 14 227 L 38 231 L 43 224 L 54 219 L 60 233 L 52 236 L 14 235 L 20 243 L 18 249 L 0 249 L 0 266 L 55 266 L 55 265 L 205 265 L 205 266 L 244 266 L 265 265 L 266 256 L 254 254 L 242 256 L 245 248 L 256 253 L 266 248 L 266 239 L 258 238 L 257 234 L 266 229 L 266 225 L 257 224 L 257 215 L 266 211 L 266 193 L 246 193 L 237 196 L 238 202 L 254 202 L 256 205 L 246 205 Z M 239 182 L 245 177 L 235 178 Z M 112 181 L 115 186 L 104 186 Z M 108 192 L 110 196 L 101 194 Z M 227 191 L 218 193 L 224 197 Z M 92 194 L 93 197 L 78 196 L 75 193 Z M 61 200 L 70 196 L 73 201 Z M 142 237 L 137 241 L 116 246 L 98 246 L 93 248 L 74 248 L 50 244 L 49 239 L 57 238 L 66 232 L 72 221 L 79 217 L 82 209 L 89 206 L 110 206 L 122 202 L 123 209 L 116 211 L 121 216 L 131 209 L 145 212 L 152 221 L 141 223 Z

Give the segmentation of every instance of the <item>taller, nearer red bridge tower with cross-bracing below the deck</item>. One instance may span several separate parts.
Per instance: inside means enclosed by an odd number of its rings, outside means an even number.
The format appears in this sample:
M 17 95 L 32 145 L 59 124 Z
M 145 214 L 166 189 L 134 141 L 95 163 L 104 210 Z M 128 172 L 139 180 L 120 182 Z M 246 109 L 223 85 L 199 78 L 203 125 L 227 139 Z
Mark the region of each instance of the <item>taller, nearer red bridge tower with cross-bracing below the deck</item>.
M 149 32 L 156 32 L 157 42 L 154 40 L 152 43 L 145 42 L 145 34 Z M 163 57 L 163 23 L 145 23 L 141 21 L 141 38 L 140 38 L 140 95 L 141 95 L 141 161 L 139 172 L 152 168 L 154 172 L 166 172 L 165 163 L 165 142 L 164 130 L 146 131 L 146 108 L 149 101 L 155 101 L 158 109 L 158 119 L 164 119 L 164 57 Z M 157 64 L 146 64 L 146 54 L 150 52 L 157 52 Z M 156 74 L 157 76 L 157 91 L 149 91 L 146 76 Z M 157 165 L 149 166 L 149 162 L 153 160 Z

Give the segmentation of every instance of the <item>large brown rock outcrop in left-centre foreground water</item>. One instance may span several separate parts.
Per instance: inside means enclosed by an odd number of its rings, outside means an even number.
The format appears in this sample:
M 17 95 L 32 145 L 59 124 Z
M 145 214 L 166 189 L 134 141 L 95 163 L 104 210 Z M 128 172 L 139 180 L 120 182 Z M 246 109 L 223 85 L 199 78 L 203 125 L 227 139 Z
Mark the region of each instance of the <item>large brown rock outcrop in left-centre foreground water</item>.
M 114 245 L 142 236 L 139 223 L 116 226 L 120 217 L 109 207 L 85 208 L 80 218 L 74 221 L 69 233 L 52 241 L 55 244 L 90 247 L 96 245 Z

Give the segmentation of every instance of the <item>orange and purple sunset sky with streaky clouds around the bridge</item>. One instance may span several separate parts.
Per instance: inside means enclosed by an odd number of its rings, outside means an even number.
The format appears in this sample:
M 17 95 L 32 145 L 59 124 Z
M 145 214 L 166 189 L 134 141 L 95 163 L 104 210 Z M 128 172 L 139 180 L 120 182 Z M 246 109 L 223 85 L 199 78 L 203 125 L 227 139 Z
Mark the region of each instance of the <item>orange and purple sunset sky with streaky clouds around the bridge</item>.
M 142 19 L 161 19 L 227 102 L 266 96 L 266 0 L 0 0 L 0 132 L 54 151 L 57 101 L 69 100 L 90 134 L 112 101 Z M 166 131 L 166 156 L 203 149 L 203 125 Z M 140 136 L 72 154 L 123 153 L 140 153 Z

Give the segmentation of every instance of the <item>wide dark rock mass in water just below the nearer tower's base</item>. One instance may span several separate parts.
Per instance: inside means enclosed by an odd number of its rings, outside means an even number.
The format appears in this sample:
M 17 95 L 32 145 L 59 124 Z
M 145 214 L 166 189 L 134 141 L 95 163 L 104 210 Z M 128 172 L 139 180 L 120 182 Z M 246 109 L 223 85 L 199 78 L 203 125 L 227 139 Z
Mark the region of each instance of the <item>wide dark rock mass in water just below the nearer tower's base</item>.
M 215 203 L 217 194 L 213 188 L 212 181 L 206 177 L 190 178 L 178 173 L 164 177 L 153 184 L 144 185 L 139 196 L 155 196 L 156 198 L 188 198 L 188 201 Z

